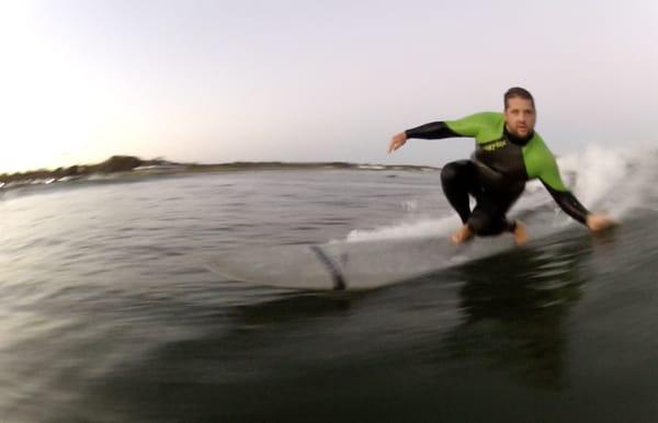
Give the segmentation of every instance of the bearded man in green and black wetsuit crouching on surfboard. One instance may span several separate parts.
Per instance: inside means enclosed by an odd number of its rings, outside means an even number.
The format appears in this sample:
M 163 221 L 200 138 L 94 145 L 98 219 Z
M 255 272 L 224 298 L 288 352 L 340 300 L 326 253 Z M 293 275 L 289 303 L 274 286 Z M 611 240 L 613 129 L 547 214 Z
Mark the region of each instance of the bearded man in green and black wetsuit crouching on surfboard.
M 518 244 L 525 242 L 525 225 L 510 221 L 506 215 L 523 192 L 525 182 L 537 178 L 567 215 L 592 231 L 614 225 L 605 215 L 589 213 L 563 183 L 555 157 L 534 132 L 536 112 L 532 94 L 515 87 L 506 92 L 503 100 L 504 113 L 485 112 L 458 121 L 426 124 L 395 135 L 388 146 L 390 153 L 409 138 L 476 139 L 470 160 L 447 163 L 441 170 L 443 192 L 464 224 L 452 240 L 461 243 L 474 235 L 509 231 Z M 476 201 L 473 210 L 469 195 Z

